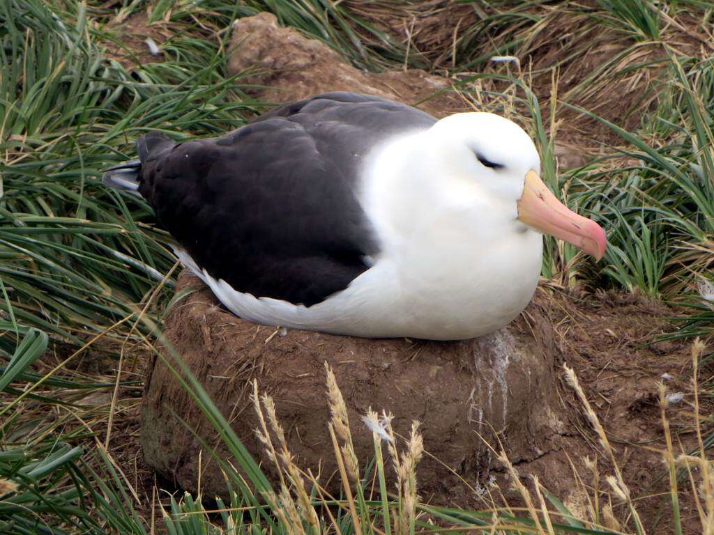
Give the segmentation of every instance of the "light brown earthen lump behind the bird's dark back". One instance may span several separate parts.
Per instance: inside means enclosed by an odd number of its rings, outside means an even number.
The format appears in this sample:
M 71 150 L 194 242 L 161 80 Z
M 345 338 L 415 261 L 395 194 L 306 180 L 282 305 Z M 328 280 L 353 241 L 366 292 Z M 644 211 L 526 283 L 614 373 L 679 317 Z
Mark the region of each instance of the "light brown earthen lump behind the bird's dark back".
M 233 24 L 228 46 L 228 73 L 245 73 L 241 82 L 265 86 L 262 101 L 289 102 L 325 91 L 355 91 L 418 103 L 451 86 L 448 78 L 420 69 L 366 73 L 316 39 L 278 26 L 273 14 L 261 13 Z M 436 117 L 473 111 L 454 93 L 443 93 L 418 106 Z

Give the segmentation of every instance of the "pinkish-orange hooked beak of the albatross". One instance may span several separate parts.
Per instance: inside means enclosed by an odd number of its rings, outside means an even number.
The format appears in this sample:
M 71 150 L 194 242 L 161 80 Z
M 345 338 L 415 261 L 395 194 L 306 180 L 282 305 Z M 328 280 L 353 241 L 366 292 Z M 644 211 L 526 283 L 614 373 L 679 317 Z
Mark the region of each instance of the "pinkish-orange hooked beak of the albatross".
M 518 201 L 518 219 L 538 232 L 565 240 L 600 260 L 608 238 L 595 221 L 568 210 L 540 180 L 534 170 L 526 174 L 523 195 Z

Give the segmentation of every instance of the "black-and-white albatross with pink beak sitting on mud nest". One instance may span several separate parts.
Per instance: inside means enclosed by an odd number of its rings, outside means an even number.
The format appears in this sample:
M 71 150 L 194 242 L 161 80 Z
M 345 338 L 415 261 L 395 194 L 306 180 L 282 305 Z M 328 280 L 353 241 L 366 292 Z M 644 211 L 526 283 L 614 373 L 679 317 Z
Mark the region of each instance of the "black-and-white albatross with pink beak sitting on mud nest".
M 511 322 L 543 234 L 596 259 L 605 232 L 539 177 L 523 129 L 377 96 L 288 103 L 223 136 L 151 132 L 104 183 L 141 195 L 231 312 L 358 337 L 461 340 Z

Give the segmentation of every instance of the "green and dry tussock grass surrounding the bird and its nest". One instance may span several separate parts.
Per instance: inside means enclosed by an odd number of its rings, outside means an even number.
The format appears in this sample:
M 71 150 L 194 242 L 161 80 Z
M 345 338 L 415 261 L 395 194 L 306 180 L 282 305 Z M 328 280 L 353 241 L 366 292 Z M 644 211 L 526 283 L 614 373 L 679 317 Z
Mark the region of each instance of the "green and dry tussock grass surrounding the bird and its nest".
M 451 78 L 464 98 L 485 95 L 490 109 L 518 116 L 538 143 L 545 180 L 610 240 L 597 265 L 547 240 L 543 277 L 663 300 L 672 305 L 666 336 L 714 335 L 710 1 L 3 0 L 0 533 L 656 532 L 616 480 L 612 493 L 628 503 L 622 524 L 608 520 L 602 497 L 576 518 L 537 483 L 532 495 L 519 487 L 522 509 L 497 500 L 479 511 L 418 504 L 416 429 L 403 453 L 386 440 L 386 456 L 403 467 L 403 484 L 389 498 L 373 499 L 359 484 L 348 492 L 349 483 L 334 499 L 318 486 L 306 494 L 300 482 L 310 488 L 311 481 L 291 464 L 288 445 L 266 438 L 285 474 L 283 487 L 271 489 L 227 430 L 231 463 L 243 469 L 241 479 L 226 464 L 232 504 L 211 503 L 208 511 L 188 495 L 139 495 L 107 445 L 136 417 L 141 370 L 162 311 L 176 299 L 177 265 L 146 203 L 108 190 L 101 173 L 134 156 L 134 140 L 146 131 L 214 136 L 271 106 L 252 98 L 240 75 L 226 74 L 231 24 L 260 11 L 360 68 L 424 68 Z M 151 41 L 157 50 L 127 33 L 131 21 L 147 36 L 164 36 Z M 588 157 L 558 167 L 563 151 Z M 693 345 L 693 355 L 708 364 L 704 345 Z M 181 368 L 178 355 L 171 362 Z M 698 377 L 696 367 L 688 373 Z M 227 428 L 199 384 L 189 377 L 186 388 L 216 427 Z M 699 388 L 695 399 L 713 392 L 706 377 Z M 336 442 L 348 452 L 336 387 L 330 395 Z M 275 436 L 271 400 L 256 406 L 266 411 L 263 433 Z M 692 464 L 677 464 L 668 442 L 667 503 L 681 532 L 678 495 L 690 492 L 703 532 L 714 533 L 706 457 L 714 434 L 710 415 L 694 421 L 700 447 Z M 377 437 L 390 431 L 383 421 L 373 426 L 376 463 L 366 466 L 380 476 L 390 461 Z M 680 489 L 682 477 L 693 487 Z

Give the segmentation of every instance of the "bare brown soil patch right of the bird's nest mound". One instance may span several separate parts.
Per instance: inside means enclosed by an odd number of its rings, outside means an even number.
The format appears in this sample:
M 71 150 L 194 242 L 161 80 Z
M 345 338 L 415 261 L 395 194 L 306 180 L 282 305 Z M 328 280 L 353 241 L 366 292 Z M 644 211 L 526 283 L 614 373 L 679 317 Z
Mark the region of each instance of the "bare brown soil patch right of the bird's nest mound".
M 668 392 L 684 392 L 685 399 L 670 405 L 668 419 L 683 450 L 695 447 L 690 401 L 691 386 L 686 374 L 691 368 L 688 342 L 656 342 L 648 345 L 671 326 L 664 320 L 675 312 L 644 297 L 606 292 L 595 295 L 567 295 L 560 291 L 540 290 L 534 304 L 524 313 L 529 317 L 535 307 L 550 320 L 560 358 L 573 367 L 590 404 L 613 444 L 625 482 L 636 497 L 637 508 L 648 533 L 671 533 L 671 509 L 668 502 L 668 477 L 660 454 L 665 449 L 658 403 L 657 382 L 665 382 Z M 663 379 L 669 374 L 671 379 Z M 573 472 L 586 485 L 592 484 L 582 458 L 597 457 L 600 473 L 613 469 L 598 438 L 582 414 L 573 390 L 561 389 L 562 399 L 571 409 L 568 429 L 559 452 L 552 452 L 523 467 L 522 473 L 534 472 L 545 486 L 561 499 L 578 508 L 580 491 L 573 489 Z M 703 409 L 708 414 L 708 409 Z M 571 467 L 570 462 L 573 463 Z M 601 479 L 602 481 L 602 479 Z M 680 489 L 688 486 L 680 482 Z M 568 487 L 570 487 L 568 489 Z M 600 491 L 608 491 L 604 481 Z M 690 494 L 680 496 L 686 533 L 699 533 L 701 526 Z M 625 506 L 613 499 L 615 511 L 625 516 Z M 585 504 L 580 503 L 584 508 Z M 658 509 L 663 517 L 655 527 Z

